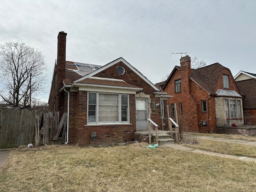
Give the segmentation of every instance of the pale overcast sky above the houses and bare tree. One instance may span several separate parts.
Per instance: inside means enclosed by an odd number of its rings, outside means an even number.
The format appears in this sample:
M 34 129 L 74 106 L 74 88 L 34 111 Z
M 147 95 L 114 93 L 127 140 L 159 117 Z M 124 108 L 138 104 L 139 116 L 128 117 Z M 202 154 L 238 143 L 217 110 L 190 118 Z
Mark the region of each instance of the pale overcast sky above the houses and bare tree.
M 0 44 L 42 52 L 49 87 L 60 31 L 66 60 L 105 65 L 123 57 L 155 84 L 179 65 L 173 52 L 219 62 L 233 76 L 256 73 L 255 19 L 256 0 L 0 0 Z

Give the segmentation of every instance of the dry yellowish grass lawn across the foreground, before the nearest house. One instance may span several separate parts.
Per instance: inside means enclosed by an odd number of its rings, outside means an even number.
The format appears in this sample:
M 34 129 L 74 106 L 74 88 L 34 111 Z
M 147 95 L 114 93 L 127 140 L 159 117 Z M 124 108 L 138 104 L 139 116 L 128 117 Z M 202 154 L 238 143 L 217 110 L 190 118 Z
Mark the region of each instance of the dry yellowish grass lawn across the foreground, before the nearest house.
M 140 145 L 14 150 L 0 168 L 0 191 L 247 192 L 256 188 L 254 163 Z

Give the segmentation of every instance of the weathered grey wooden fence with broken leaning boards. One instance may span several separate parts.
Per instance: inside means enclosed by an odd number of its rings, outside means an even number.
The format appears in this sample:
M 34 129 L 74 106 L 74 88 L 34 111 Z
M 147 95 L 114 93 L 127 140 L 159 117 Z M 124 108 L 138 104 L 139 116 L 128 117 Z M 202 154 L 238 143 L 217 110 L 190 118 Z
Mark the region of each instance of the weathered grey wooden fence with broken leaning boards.
M 62 129 L 64 127 L 64 129 Z M 36 110 L 0 110 L 0 148 L 16 148 L 32 143 L 35 146 L 58 140 L 66 140 L 67 114 L 59 124 L 59 112 Z

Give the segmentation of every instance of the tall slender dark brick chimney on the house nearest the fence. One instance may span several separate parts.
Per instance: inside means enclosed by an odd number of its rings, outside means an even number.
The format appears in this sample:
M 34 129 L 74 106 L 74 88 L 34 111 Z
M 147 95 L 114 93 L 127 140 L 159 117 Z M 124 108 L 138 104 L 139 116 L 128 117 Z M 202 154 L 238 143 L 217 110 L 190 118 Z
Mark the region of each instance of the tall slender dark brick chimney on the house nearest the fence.
M 60 90 L 63 87 L 63 79 L 65 78 L 65 67 L 66 67 L 66 36 L 64 31 L 58 34 L 58 51 L 57 51 L 57 76 L 58 76 L 58 87 Z

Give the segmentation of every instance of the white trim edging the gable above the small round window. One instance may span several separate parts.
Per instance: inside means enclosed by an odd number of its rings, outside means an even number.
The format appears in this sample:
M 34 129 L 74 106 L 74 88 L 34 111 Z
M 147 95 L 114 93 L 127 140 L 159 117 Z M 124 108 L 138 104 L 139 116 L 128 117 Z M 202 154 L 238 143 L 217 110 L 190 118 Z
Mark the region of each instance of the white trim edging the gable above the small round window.
M 152 82 L 150 82 L 150 80 L 148 80 L 146 77 L 144 77 L 140 72 L 138 72 L 138 70 L 136 70 L 133 66 L 131 66 L 126 60 L 124 60 L 124 58 L 118 58 L 117 60 L 114 60 L 104 66 L 102 66 L 101 68 L 98 68 L 97 70 L 83 76 L 82 78 L 79 78 L 78 80 L 74 81 L 74 83 L 77 83 L 81 80 L 84 80 L 86 78 L 90 78 L 96 74 L 98 74 L 99 72 L 102 72 L 103 70 L 106 70 L 107 68 L 113 66 L 114 64 L 117 64 L 118 62 L 123 62 L 126 66 L 128 66 L 128 68 L 130 68 L 135 74 L 137 74 L 140 78 L 142 78 L 145 82 L 147 82 L 152 88 L 154 88 L 154 90 L 156 91 L 160 91 L 160 89 L 158 89 L 154 84 L 152 84 Z

